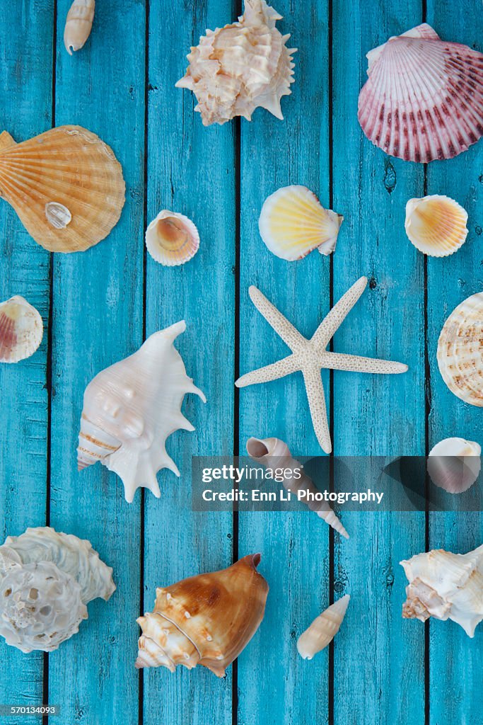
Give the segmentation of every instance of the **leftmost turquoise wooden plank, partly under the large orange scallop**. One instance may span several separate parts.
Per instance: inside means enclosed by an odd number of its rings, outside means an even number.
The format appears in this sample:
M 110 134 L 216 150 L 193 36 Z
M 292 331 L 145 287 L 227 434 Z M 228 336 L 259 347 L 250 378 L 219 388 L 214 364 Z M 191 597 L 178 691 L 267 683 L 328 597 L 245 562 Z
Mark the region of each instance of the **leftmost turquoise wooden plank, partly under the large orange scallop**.
M 25 141 L 51 123 L 52 17 L 48 1 L 15 3 L 0 15 L 0 125 Z M 0 203 L 0 299 L 21 294 L 44 323 L 40 349 L 16 365 L 0 363 L 1 542 L 42 526 L 46 517 L 47 323 L 49 252 L 35 244 L 6 202 Z M 0 641 L 0 703 L 42 703 L 43 656 Z M 9 717 L 20 725 L 22 717 Z M 41 718 L 33 717 L 32 725 Z

